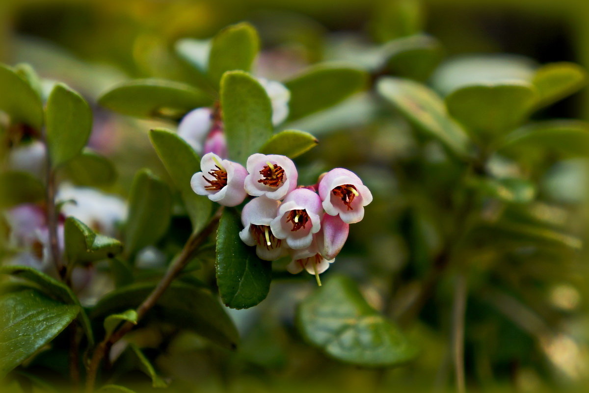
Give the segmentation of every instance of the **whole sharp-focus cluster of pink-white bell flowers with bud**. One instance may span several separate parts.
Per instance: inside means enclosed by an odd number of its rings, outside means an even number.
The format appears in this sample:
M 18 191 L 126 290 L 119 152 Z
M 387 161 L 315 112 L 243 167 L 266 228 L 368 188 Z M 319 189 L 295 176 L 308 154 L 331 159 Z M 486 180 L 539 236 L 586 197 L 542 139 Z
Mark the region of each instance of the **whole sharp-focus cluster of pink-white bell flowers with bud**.
M 290 255 L 287 269 L 305 269 L 317 278 L 329 268 L 348 239 L 349 226 L 364 217 L 372 194 L 348 169 L 335 168 L 319 176 L 311 186 L 297 186 L 294 163 L 283 155 L 253 154 L 246 168 L 207 153 L 201 172 L 191 179 L 198 195 L 233 207 L 247 195 L 254 196 L 241 212 L 247 245 L 256 246 L 258 257 L 275 261 Z

